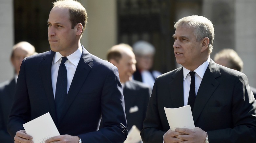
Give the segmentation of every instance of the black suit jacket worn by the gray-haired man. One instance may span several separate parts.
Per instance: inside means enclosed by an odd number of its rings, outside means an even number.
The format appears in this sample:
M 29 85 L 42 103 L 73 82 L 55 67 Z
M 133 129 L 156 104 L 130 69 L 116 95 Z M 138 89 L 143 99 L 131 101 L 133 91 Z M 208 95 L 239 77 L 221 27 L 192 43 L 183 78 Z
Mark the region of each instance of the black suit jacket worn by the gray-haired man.
M 170 129 L 164 107 L 177 108 L 183 102 L 183 69 L 156 79 L 141 131 L 144 143 L 162 143 Z M 193 119 L 208 133 L 210 143 L 256 142 L 256 102 L 245 74 L 214 63 L 206 69 L 200 84 Z

